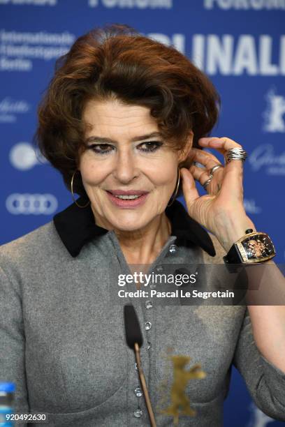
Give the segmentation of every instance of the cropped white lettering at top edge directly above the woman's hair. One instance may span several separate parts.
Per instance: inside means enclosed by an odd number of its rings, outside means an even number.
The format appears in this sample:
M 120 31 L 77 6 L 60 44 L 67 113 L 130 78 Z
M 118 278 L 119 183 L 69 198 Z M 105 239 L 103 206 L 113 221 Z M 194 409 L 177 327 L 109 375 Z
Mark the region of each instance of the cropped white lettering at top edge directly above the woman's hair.
M 105 6 L 105 8 L 164 8 L 170 9 L 173 7 L 173 0 L 88 0 L 88 5 L 91 8 L 97 6 Z

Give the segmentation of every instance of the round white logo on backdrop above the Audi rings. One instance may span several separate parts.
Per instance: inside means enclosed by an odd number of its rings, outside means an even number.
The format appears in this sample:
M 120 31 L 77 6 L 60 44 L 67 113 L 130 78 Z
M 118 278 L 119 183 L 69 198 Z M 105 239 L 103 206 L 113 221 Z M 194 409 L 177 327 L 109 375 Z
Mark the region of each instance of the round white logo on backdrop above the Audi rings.
M 29 142 L 18 142 L 9 153 L 10 163 L 15 169 L 30 170 L 36 165 L 47 163 L 39 151 L 35 151 Z

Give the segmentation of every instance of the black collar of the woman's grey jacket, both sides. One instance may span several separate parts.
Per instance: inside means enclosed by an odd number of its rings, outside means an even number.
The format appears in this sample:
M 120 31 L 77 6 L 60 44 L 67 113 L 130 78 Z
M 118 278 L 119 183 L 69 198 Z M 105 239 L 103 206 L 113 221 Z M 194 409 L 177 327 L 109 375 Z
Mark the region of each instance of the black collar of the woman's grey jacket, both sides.
M 80 197 L 77 202 L 84 205 L 87 199 Z M 171 234 L 177 237 L 177 241 L 187 246 L 198 245 L 212 257 L 216 255 L 209 234 L 189 216 L 180 202 L 175 200 L 170 207 L 166 207 L 166 216 L 170 219 Z M 79 208 L 73 203 L 64 211 L 54 215 L 53 221 L 61 241 L 73 257 L 80 253 L 87 242 L 108 232 L 94 222 L 90 204 L 85 208 Z

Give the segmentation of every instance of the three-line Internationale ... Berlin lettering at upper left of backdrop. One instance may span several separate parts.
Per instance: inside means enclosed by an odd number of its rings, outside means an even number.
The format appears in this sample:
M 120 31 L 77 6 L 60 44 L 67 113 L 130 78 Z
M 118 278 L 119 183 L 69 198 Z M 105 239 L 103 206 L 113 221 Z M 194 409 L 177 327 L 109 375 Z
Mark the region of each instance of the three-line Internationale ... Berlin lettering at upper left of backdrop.
M 31 71 L 37 59 L 50 61 L 66 54 L 74 40 L 68 31 L 22 33 L 1 29 L 0 71 Z

